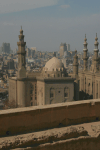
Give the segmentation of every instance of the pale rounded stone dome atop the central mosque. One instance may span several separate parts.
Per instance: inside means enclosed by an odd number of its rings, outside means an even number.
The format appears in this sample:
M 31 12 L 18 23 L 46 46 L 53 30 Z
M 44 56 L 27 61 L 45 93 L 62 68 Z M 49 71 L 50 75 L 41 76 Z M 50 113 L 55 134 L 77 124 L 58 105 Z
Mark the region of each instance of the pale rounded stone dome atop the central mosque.
M 45 65 L 46 71 L 56 71 L 56 69 L 62 69 L 64 68 L 64 64 L 56 57 L 51 58 Z

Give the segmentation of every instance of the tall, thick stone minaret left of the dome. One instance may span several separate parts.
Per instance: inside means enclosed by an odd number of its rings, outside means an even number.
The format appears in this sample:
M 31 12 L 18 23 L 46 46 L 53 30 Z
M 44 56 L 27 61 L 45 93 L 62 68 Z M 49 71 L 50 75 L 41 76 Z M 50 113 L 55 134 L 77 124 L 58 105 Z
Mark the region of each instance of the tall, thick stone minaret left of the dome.
M 21 30 L 20 30 L 20 35 L 19 35 L 19 42 L 17 42 L 18 45 L 18 74 L 17 77 L 18 78 L 26 78 L 26 61 L 25 61 L 25 55 L 26 55 L 26 51 L 25 51 L 25 45 L 26 42 L 24 42 L 24 35 L 23 35 L 23 30 L 22 30 L 22 26 L 21 26 Z

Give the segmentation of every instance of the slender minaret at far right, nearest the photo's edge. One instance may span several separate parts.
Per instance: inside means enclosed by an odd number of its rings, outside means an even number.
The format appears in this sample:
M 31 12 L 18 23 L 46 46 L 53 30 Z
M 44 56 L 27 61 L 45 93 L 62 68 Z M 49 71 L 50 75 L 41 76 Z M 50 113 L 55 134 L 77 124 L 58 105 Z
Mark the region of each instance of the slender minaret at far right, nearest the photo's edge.
M 98 49 L 98 38 L 97 38 L 97 33 L 96 33 L 96 38 L 95 38 L 95 43 L 94 43 L 94 46 L 95 46 L 95 49 L 94 49 L 94 57 L 93 57 L 93 60 L 94 60 L 94 72 L 97 72 L 99 70 L 99 65 L 98 65 L 98 52 L 99 52 L 99 49 Z

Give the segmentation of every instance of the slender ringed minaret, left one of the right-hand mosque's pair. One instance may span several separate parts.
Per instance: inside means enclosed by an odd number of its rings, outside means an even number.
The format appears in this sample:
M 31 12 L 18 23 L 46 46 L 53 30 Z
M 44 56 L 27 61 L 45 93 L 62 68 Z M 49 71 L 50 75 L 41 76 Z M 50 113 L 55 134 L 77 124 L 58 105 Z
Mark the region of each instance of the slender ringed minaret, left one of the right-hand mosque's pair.
M 87 43 L 86 34 L 85 34 L 85 39 L 84 39 L 83 45 L 84 45 L 84 49 L 83 49 L 83 52 L 84 52 L 84 54 L 83 54 L 84 71 L 87 71 L 87 67 L 88 67 L 88 64 L 87 64 L 87 60 L 88 60 L 88 56 L 87 56 L 87 51 L 88 51 L 87 45 L 88 45 L 88 43 Z

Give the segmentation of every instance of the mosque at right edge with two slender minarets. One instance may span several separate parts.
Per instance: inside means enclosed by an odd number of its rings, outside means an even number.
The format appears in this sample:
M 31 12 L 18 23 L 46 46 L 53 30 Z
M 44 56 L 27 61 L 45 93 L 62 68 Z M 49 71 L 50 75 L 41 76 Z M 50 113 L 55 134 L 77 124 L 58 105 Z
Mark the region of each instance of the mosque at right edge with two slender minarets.
M 85 96 L 88 94 L 89 99 L 98 99 L 100 98 L 100 63 L 98 57 L 98 37 L 96 34 L 95 43 L 94 43 L 94 56 L 92 58 L 92 65 L 90 69 L 88 69 L 88 56 L 87 56 L 87 38 L 85 35 L 84 39 L 84 49 L 83 49 L 83 62 L 84 68 L 83 70 L 79 70 L 78 77 L 79 77 L 79 91 L 83 93 Z

